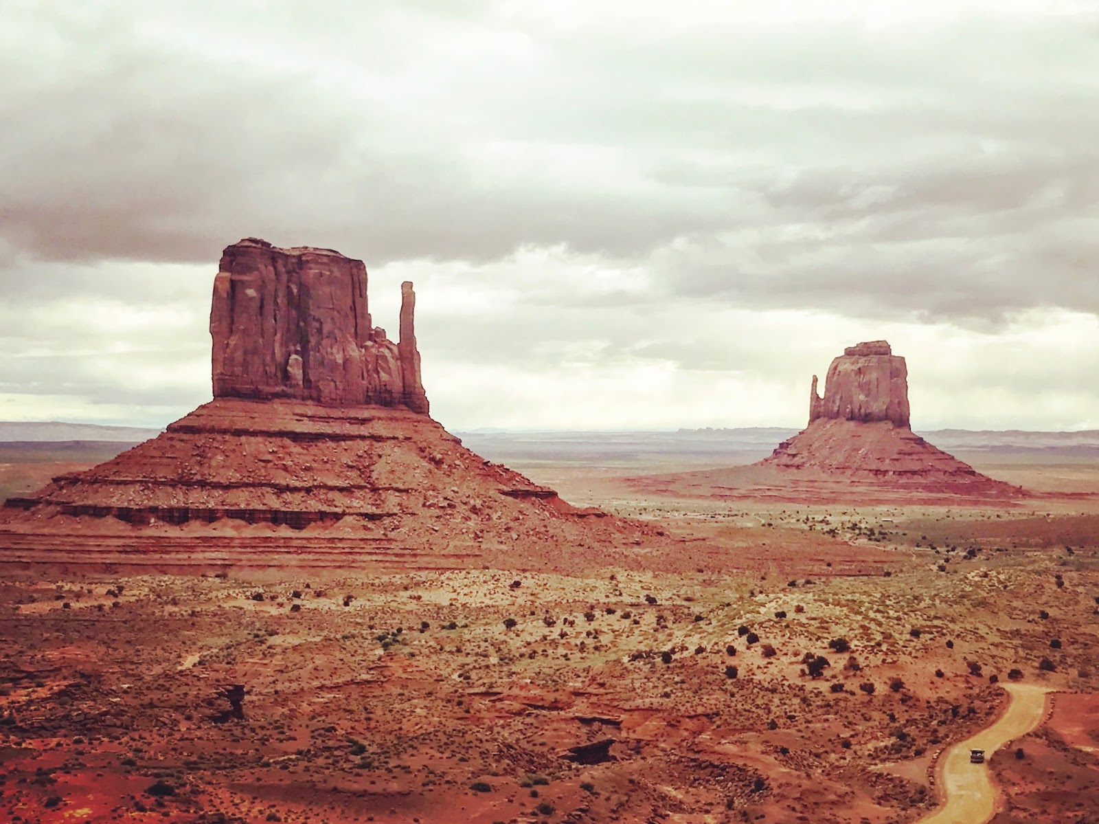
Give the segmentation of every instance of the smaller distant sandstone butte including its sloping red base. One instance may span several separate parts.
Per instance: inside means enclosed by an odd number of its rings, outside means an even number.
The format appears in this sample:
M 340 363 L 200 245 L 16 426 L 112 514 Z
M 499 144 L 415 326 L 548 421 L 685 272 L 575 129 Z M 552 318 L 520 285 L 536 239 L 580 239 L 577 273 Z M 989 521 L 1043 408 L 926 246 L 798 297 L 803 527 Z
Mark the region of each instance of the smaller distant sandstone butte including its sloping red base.
M 1022 492 L 980 474 L 912 431 L 908 367 L 886 341 L 847 347 L 829 366 L 823 397 L 813 375 L 809 426 L 756 465 L 802 477 L 981 497 L 1015 497 Z

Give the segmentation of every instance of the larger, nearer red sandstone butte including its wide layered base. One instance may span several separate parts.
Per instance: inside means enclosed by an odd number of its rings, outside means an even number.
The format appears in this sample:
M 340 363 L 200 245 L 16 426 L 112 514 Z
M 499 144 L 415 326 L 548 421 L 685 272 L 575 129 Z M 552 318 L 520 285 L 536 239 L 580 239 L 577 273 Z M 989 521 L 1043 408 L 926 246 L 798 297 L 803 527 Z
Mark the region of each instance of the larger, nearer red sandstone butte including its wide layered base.
M 199 571 L 564 563 L 655 528 L 577 509 L 428 416 L 402 286 L 373 327 L 359 261 L 229 246 L 214 279 L 213 400 L 0 512 L 0 563 Z

